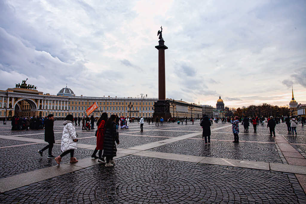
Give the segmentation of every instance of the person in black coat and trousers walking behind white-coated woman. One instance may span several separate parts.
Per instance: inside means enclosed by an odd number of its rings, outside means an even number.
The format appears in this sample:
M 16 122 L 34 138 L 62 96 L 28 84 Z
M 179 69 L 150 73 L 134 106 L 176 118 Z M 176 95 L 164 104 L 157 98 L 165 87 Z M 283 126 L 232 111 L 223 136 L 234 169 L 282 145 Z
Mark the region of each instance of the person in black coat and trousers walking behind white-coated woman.
M 47 120 L 45 120 L 45 142 L 49 143 L 46 147 L 44 147 L 42 150 L 38 150 L 38 153 L 40 156 L 43 156 L 43 151 L 47 150 L 49 148 L 49 156 L 48 159 L 54 159 L 55 157 L 52 155 L 52 148 L 53 144 L 55 143 L 54 139 L 54 131 L 53 131 L 53 125 L 54 125 L 54 115 L 49 114 L 47 116 Z

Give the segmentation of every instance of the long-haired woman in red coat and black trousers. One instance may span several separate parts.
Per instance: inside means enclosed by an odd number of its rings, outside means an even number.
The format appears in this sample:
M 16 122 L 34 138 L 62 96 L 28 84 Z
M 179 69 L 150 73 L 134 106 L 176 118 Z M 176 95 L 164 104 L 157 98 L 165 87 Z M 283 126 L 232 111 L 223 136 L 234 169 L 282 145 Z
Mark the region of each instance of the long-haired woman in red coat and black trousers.
M 94 153 L 91 155 L 92 158 L 99 158 L 99 162 L 105 163 L 104 158 L 102 158 L 103 143 L 104 143 L 104 134 L 105 134 L 105 122 L 107 121 L 107 113 L 102 113 L 101 117 L 97 121 L 97 147 L 94 150 Z M 99 157 L 96 156 L 99 150 Z

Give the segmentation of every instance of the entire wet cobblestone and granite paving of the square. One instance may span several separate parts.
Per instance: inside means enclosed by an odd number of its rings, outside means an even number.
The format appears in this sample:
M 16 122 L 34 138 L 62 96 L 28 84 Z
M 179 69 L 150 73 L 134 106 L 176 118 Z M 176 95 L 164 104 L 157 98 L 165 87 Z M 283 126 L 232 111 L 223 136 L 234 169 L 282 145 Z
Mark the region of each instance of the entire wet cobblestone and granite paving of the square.
M 137 122 L 131 123 L 129 129 L 119 128 L 120 144 L 116 145 L 119 158 L 115 158 L 114 167 L 105 167 L 90 158 L 92 146 L 96 144 L 96 129 L 82 131 L 82 126 L 76 126 L 78 144 L 82 147 L 75 151 L 79 162 L 70 165 L 70 156 L 66 155 L 57 166 L 54 159 L 47 159 L 48 150 L 43 157 L 37 152 L 47 145 L 42 144 L 44 134 L 36 135 L 44 130 L 10 131 L 10 125 L 0 124 L 0 189 L 13 180 L 21 183 L 18 187 L 1 190 L 0 203 L 306 203 L 306 169 L 299 170 L 300 174 L 292 169 L 271 170 L 274 164 L 288 166 L 288 157 L 299 159 L 295 165 L 303 163 L 301 160 L 306 159 L 305 136 L 283 134 L 288 133 L 285 124 L 277 124 L 275 139 L 270 137 L 266 125 L 258 125 L 257 133 L 250 126 L 249 133 L 241 134 L 244 131 L 240 125 L 240 141 L 248 142 L 235 144 L 212 140 L 210 145 L 205 145 L 199 122 L 159 126 L 145 123 L 145 132 L 139 132 Z M 55 140 L 62 138 L 62 123 L 54 122 Z M 233 140 L 229 125 L 214 123 L 211 129 L 218 130 L 211 133 L 211 139 Z M 297 132 L 306 135 L 300 124 Z M 21 137 L 39 144 L 17 141 Z M 20 146 L 5 147 L 11 145 Z M 293 150 L 287 149 L 289 147 Z M 138 154 L 143 156 L 136 156 L 137 152 L 144 152 Z M 59 154 L 60 145 L 54 145 L 53 155 Z M 181 160 L 182 157 L 188 160 Z M 195 163 L 187 162 L 194 157 L 198 159 Z M 205 158 L 212 163 L 199 162 Z M 216 165 L 228 159 L 233 160 L 225 162 L 226 166 Z M 239 168 L 231 163 L 233 161 L 250 162 L 250 165 Z M 268 164 L 270 170 L 254 167 L 258 162 Z M 60 167 L 55 174 L 54 167 Z M 31 183 L 26 172 L 33 174 L 31 178 L 35 180 L 38 171 L 44 173 L 40 172 L 39 180 Z M 50 174 L 54 176 L 47 177 Z M 23 175 L 24 179 L 18 177 Z M 305 181 L 298 175 L 304 176 Z

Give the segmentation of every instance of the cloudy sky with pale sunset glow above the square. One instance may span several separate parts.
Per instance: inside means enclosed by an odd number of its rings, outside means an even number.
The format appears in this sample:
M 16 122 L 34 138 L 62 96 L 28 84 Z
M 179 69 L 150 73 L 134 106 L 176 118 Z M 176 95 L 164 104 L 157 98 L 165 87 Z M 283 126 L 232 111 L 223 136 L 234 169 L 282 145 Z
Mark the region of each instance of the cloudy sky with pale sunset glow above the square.
M 226 106 L 306 103 L 306 1 L 0 1 L 0 89 L 166 97 Z

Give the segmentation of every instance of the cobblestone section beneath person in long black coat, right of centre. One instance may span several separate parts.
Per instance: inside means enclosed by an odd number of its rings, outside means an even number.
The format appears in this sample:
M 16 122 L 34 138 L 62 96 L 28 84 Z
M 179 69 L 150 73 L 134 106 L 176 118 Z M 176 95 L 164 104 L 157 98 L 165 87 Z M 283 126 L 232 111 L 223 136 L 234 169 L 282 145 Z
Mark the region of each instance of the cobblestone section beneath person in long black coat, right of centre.
M 211 141 L 210 145 L 205 145 L 204 143 L 204 140 L 186 139 L 156 147 L 150 151 L 202 157 L 287 163 L 276 144 L 232 143 L 226 141 Z

